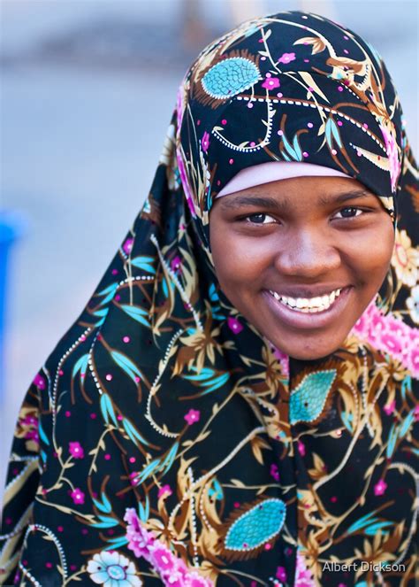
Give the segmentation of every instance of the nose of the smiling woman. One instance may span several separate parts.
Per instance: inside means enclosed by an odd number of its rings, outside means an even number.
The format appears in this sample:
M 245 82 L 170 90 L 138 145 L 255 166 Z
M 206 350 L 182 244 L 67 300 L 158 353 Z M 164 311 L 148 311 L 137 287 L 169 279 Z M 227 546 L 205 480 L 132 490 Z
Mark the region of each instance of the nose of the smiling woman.
M 324 230 L 304 228 L 293 232 L 281 246 L 275 261 L 281 274 L 314 280 L 340 266 L 336 243 L 331 243 Z

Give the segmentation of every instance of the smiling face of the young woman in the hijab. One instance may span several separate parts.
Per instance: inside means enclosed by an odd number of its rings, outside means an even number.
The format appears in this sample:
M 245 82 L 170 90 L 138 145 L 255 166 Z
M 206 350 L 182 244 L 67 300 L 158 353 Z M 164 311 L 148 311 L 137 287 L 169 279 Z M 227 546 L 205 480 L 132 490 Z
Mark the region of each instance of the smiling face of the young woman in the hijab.
M 360 182 L 298 177 L 215 200 L 209 215 L 221 290 L 279 350 L 325 357 L 385 279 L 392 220 Z

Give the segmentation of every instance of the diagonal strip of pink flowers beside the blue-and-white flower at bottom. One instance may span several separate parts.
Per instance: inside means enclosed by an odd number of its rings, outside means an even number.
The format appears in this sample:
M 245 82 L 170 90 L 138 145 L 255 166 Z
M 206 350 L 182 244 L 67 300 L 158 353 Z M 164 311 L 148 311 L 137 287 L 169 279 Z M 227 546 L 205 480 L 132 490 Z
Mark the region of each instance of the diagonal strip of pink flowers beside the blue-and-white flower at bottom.
M 202 577 L 197 569 L 190 569 L 176 554 L 141 525 L 133 508 L 126 510 L 126 538 L 128 548 L 136 557 L 147 560 L 162 579 L 164 587 L 213 587 L 212 581 Z

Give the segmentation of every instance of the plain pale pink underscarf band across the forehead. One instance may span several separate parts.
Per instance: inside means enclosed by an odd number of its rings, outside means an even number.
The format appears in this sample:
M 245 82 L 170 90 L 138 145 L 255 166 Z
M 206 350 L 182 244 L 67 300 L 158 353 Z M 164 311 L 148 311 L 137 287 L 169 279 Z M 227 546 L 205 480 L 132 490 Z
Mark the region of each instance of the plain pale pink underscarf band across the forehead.
M 217 197 L 227 196 L 241 189 L 253 188 L 255 185 L 263 183 L 276 182 L 277 180 L 286 180 L 292 177 L 312 176 L 330 176 L 346 177 L 350 175 L 343 174 L 341 171 L 331 169 L 313 163 L 302 163 L 300 161 L 269 161 L 251 167 L 241 169 L 234 175 L 232 180 L 217 194 Z

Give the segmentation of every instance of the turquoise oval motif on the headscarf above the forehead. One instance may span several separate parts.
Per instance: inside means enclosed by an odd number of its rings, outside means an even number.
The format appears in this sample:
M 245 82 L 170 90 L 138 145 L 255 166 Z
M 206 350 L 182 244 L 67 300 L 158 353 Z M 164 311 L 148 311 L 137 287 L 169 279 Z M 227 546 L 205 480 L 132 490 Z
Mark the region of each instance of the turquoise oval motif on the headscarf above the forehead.
M 217 63 L 205 73 L 202 88 L 210 97 L 226 100 L 249 89 L 261 79 L 261 73 L 253 61 L 232 57 Z

